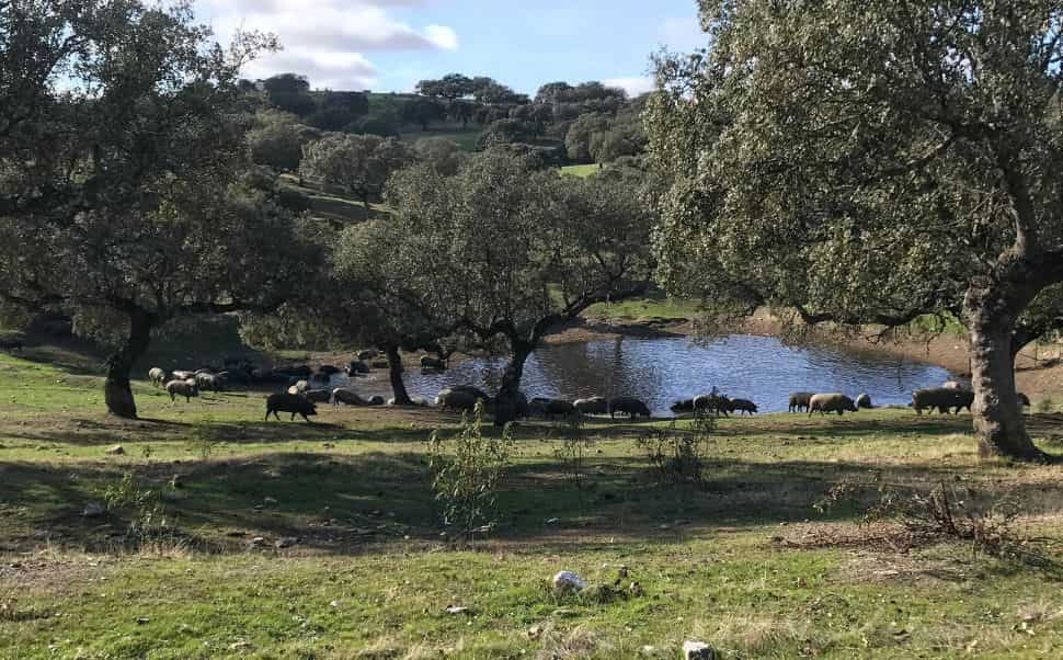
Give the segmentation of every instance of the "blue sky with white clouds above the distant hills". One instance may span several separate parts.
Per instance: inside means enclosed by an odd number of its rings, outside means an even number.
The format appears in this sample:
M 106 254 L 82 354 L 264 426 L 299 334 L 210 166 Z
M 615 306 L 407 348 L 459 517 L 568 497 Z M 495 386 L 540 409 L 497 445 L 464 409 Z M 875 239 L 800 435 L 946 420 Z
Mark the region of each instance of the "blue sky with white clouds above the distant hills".
M 284 50 L 244 76 L 306 75 L 316 89 L 409 92 L 419 80 L 490 76 L 534 94 L 546 82 L 651 89 L 650 55 L 705 45 L 696 0 L 196 0 L 225 43 L 237 30 Z

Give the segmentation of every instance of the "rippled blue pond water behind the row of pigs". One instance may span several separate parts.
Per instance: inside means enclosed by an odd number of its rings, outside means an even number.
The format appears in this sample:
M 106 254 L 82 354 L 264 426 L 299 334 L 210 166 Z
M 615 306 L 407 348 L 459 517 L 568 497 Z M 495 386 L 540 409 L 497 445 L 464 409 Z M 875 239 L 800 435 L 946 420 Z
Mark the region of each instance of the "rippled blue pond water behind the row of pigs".
M 430 401 L 454 385 L 477 385 L 494 394 L 506 360 L 475 357 L 442 374 L 410 369 L 407 388 L 410 396 Z M 912 390 L 948 379 L 949 372 L 934 365 L 785 346 L 773 337 L 735 334 L 709 343 L 617 337 L 542 346 L 525 364 L 522 389 L 528 398 L 635 396 L 655 417 L 668 417 L 673 401 L 708 392 L 713 385 L 729 397 L 752 399 L 761 412 L 777 412 L 787 409 L 791 391 L 841 391 L 854 399 L 867 392 L 876 406 L 903 406 L 912 400 Z

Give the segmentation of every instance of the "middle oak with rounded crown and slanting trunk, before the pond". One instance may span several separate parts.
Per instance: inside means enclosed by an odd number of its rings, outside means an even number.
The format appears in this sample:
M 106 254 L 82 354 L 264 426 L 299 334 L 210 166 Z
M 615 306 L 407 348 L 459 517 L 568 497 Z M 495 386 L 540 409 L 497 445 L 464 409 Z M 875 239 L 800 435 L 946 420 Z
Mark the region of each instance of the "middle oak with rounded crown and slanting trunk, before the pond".
M 502 148 L 453 177 L 419 166 L 389 183 L 393 236 L 415 241 L 419 286 L 433 287 L 424 299 L 480 341 L 510 345 L 498 423 L 514 418 L 525 362 L 544 338 L 595 303 L 645 289 L 653 223 L 640 186 L 621 171 L 586 180 L 536 171 Z

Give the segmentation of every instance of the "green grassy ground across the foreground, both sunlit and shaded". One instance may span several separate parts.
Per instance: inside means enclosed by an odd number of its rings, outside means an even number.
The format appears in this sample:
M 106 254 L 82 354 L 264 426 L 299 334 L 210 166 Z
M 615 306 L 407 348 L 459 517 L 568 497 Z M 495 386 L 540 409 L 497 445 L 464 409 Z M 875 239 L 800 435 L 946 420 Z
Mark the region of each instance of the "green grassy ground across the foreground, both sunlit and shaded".
M 424 458 L 455 416 L 321 406 L 315 424 L 264 422 L 260 392 L 171 403 L 138 382 L 145 419 L 121 421 L 102 413 L 91 359 L 75 372 L 33 361 L 61 354 L 0 355 L 0 658 L 632 658 L 645 645 L 677 657 L 687 638 L 725 658 L 1063 646 L 1055 570 L 962 544 L 860 543 L 855 507 L 813 508 L 842 478 L 947 481 L 1014 496 L 1020 528 L 1058 538 L 1063 467 L 979 464 L 965 414 L 723 420 L 700 490 L 649 478 L 635 440 L 668 422 L 590 421 L 582 488 L 555 456 L 573 431 L 524 423 L 496 532 L 459 550 L 439 540 Z M 1063 416 L 1030 426 L 1061 452 Z M 215 443 L 206 459 L 196 437 Z M 114 444 L 125 454 L 106 455 Z M 81 516 L 127 474 L 162 493 L 175 532 L 137 546 L 123 542 L 135 508 Z M 298 545 L 274 547 L 287 536 Z M 621 566 L 620 585 L 641 595 L 545 585 L 562 569 L 611 584 Z

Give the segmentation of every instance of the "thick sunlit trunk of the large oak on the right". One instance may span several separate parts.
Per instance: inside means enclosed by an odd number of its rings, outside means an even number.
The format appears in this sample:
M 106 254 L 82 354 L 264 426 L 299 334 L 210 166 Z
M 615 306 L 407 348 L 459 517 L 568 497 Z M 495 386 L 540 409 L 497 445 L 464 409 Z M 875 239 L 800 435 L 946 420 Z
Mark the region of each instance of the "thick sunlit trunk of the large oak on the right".
M 1015 354 L 1011 332 L 1015 317 L 1006 303 L 991 304 L 983 296 L 968 296 L 971 333 L 971 385 L 974 388 L 974 433 L 981 458 L 1008 457 L 1044 462 L 1048 456 L 1033 445 L 1015 391 Z

